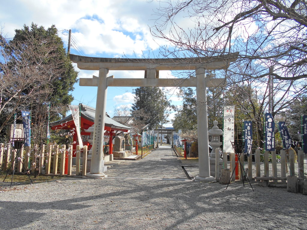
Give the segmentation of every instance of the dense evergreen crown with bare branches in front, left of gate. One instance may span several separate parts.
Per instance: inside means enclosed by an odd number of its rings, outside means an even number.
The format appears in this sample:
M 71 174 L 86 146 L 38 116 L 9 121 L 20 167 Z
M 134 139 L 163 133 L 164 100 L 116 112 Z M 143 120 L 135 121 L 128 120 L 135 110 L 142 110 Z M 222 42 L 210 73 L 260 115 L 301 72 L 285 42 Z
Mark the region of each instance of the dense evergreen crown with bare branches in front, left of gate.
M 69 91 L 77 82 L 63 42 L 54 25 L 45 29 L 32 23 L 15 30 L 12 40 L 0 35 L 0 132 L 13 122 L 14 113 L 32 110 L 33 124 L 57 119 L 73 100 Z M 51 107 L 49 109 L 49 102 Z M 47 112 L 49 111 L 49 112 Z M 47 129 L 43 129 L 44 133 Z M 33 128 L 33 135 L 35 135 Z M 37 131 L 41 133 L 41 131 Z M 38 135 L 38 134 L 37 134 Z M 45 134 L 44 134 L 45 135 Z

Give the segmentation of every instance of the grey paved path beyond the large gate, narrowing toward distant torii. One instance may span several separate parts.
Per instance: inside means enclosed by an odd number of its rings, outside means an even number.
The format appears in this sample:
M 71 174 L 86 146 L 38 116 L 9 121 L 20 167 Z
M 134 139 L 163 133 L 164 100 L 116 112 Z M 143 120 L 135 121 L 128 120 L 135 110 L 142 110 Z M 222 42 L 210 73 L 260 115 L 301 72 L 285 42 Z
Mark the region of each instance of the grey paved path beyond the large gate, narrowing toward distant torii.
M 138 161 L 126 160 L 109 168 L 108 177 L 188 179 L 170 146 L 159 146 Z

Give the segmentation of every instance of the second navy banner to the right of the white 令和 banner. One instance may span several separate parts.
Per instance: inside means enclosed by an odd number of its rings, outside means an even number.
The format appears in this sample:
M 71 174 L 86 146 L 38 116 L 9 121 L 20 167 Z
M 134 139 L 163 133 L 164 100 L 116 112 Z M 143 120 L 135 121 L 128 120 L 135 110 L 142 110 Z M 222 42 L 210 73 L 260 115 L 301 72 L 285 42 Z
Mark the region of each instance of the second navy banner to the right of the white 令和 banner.
M 275 122 L 271 113 L 265 114 L 264 144 L 265 151 L 275 151 Z

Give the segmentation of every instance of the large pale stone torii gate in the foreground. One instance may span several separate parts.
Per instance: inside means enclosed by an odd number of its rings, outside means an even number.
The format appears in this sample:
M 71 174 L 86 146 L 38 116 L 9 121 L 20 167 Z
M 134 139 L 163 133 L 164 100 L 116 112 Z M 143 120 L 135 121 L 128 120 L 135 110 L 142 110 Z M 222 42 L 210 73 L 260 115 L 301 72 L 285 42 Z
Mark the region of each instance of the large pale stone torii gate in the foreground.
M 238 54 L 214 58 L 169 58 L 169 59 L 128 59 L 97 58 L 70 54 L 72 62 L 82 70 L 99 70 L 99 77 L 80 78 L 80 86 L 98 86 L 95 129 L 92 146 L 91 171 L 87 177 L 103 178 L 103 133 L 106 113 L 108 86 L 156 86 L 156 87 L 196 87 L 197 134 L 199 153 L 198 181 L 212 181 L 209 164 L 208 113 L 206 87 L 226 86 L 221 78 L 206 79 L 205 70 L 226 69 Z M 109 70 L 143 70 L 144 79 L 108 77 Z M 160 70 L 195 70 L 196 77 L 188 79 L 159 79 Z

